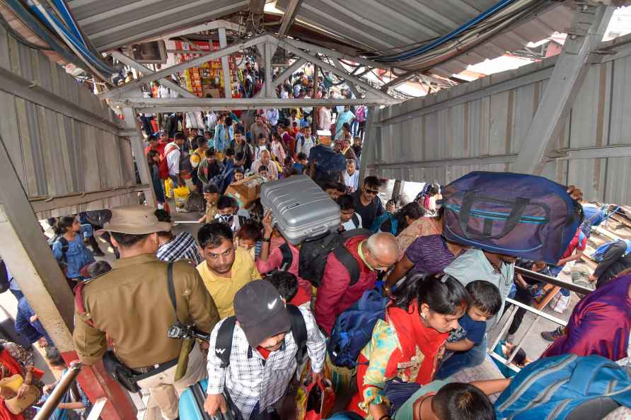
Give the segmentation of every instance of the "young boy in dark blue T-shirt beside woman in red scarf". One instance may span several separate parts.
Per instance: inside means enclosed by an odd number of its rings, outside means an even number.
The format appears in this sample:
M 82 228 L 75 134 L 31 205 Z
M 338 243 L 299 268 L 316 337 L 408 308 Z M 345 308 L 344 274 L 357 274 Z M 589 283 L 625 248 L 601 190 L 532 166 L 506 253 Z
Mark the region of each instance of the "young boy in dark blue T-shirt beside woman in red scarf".
M 456 373 L 453 372 L 454 366 L 450 363 L 450 356 L 454 352 L 469 351 L 473 346 L 480 344 L 484 339 L 487 319 L 497 314 L 502 308 L 502 295 L 499 289 L 489 281 L 472 281 L 465 288 L 469 292 L 471 305 L 465 315 L 458 320 L 458 329 L 449 334 L 445 344 L 445 357 L 436 373 L 436 378 L 439 379 Z

